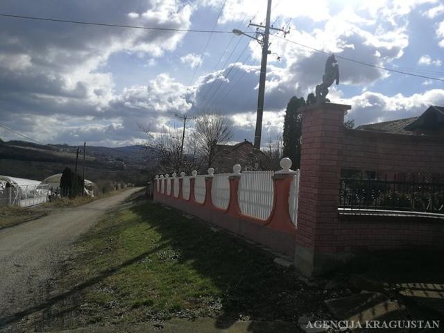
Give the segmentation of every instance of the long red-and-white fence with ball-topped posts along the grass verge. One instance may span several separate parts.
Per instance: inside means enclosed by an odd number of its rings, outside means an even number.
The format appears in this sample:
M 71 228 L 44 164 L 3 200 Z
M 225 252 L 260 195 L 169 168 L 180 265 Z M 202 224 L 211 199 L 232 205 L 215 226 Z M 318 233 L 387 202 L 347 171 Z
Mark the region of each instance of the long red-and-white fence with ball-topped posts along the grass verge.
M 233 173 L 214 175 L 210 168 L 207 175 L 193 171 L 192 176 L 181 173 L 180 178 L 156 176 L 160 185 L 155 188 L 160 191 L 154 193 L 154 200 L 293 257 L 299 173 L 290 170 L 288 158 L 281 167 L 277 172 L 241 173 L 236 164 Z

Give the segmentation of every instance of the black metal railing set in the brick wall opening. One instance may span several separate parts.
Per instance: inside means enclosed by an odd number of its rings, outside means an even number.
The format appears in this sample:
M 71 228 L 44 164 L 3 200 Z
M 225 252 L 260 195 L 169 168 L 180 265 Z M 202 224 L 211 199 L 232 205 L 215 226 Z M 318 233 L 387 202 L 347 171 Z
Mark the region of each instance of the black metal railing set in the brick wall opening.
M 339 207 L 444 214 L 444 182 L 341 178 Z

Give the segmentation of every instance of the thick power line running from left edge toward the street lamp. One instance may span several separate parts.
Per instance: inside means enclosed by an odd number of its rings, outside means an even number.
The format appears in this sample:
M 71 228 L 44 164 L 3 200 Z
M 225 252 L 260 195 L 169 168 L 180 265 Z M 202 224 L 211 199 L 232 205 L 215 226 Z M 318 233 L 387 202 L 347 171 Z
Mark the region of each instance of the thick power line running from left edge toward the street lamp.
M 203 29 L 180 29 L 180 28 L 158 28 L 153 26 L 129 26 L 125 24 L 110 24 L 110 23 L 99 23 L 99 22 L 83 22 L 83 21 L 73 21 L 69 19 L 51 19 L 48 17 L 35 17 L 35 16 L 23 16 L 23 15 L 12 15 L 0 13 L 0 17 L 12 17 L 15 19 L 33 19 L 37 21 L 46 22 L 60 22 L 60 23 L 71 23 L 71 24 L 83 24 L 87 26 L 111 26 L 113 28 L 131 28 L 131 29 L 143 29 L 143 30 L 155 30 L 155 31 L 178 31 L 185 33 L 232 33 L 232 31 L 221 31 L 221 30 L 203 30 Z

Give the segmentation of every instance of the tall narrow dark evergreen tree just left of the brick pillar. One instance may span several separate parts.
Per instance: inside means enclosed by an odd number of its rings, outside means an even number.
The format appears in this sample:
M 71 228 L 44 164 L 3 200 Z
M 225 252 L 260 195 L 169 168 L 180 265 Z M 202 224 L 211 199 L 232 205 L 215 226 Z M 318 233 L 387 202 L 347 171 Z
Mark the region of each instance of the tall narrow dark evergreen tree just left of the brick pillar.
M 293 161 L 292 169 L 299 169 L 300 166 L 300 136 L 302 134 L 302 114 L 298 111 L 300 106 L 305 105 L 303 97 L 293 96 L 287 104 L 284 118 L 284 157 L 289 157 Z

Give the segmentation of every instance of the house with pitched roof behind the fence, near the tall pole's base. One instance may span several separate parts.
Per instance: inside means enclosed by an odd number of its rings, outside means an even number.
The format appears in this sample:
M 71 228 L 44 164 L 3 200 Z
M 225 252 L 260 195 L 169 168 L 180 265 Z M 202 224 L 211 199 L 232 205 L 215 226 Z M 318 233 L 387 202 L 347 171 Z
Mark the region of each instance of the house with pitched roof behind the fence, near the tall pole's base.
M 241 164 L 242 171 L 273 169 L 270 158 L 247 139 L 234 145 L 218 144 L 216 149 L 216 173 L 232 173 L 234 164 Z

